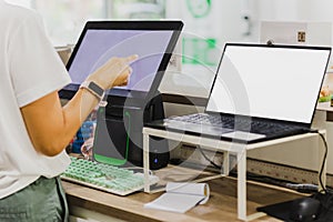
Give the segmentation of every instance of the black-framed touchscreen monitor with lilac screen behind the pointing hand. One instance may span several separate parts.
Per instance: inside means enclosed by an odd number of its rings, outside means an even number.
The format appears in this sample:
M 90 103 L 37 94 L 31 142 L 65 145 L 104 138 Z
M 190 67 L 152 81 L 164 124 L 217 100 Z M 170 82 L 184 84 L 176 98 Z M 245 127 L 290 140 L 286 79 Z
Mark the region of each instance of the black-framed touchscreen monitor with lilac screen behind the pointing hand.
M 145 99 L 162 80 L 176 44 L 181 21 L 89 21 L 69 59 L 72 82 L 60 91 L 70 99 L 85 78 L 112 57 L 138 54 L 128 85 L 115 87 L 109 97 Z

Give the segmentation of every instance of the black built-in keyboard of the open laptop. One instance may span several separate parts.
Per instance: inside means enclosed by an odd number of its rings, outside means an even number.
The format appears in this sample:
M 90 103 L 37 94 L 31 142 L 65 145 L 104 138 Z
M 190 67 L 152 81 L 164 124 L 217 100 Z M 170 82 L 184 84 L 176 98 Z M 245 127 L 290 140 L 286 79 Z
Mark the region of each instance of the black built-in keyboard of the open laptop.
M 275 134 L 284 131 L 301 130 L 294 125 L 279 124 L 274 122 L 254 121 L 251 118 L 233 118 L 210 115 L 206 113 L 193 113 L 189 115 L 174 117 L 168 121 L 181 121 L 189 123 L 208 124 L 218 128 L 235 129 L 260 134 Z

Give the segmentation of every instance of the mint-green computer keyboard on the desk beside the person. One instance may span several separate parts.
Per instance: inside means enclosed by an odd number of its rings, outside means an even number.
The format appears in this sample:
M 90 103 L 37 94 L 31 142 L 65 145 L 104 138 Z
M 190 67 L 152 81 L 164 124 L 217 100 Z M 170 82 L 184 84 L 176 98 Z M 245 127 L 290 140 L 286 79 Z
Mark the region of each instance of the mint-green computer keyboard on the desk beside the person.
M 141 172 L 73 157 L 61 179 L 118 195 L 128 195 L 144 186 L 144 175 Z M 158 176 L 149 175 L 151 185 L 158 181 Z

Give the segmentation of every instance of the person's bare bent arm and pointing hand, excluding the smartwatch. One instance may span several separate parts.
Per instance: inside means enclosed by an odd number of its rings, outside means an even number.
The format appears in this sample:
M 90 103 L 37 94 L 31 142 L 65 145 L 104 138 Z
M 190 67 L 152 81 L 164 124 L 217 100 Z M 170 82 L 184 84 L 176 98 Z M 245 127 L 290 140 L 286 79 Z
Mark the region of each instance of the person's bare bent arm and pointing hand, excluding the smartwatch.
M 88 80 L 94 81 L 104 90 L 124 85 L 131 73 L 129 63 L 135 59 L 137 56 L 112 58 L 88 77 Z M 58 92 L 54 91 L 21 108 L 34 149 L 50 157 L 59 154 L 98 103 L 98 98 L 82 88 L 64 107 L 61 107 Z

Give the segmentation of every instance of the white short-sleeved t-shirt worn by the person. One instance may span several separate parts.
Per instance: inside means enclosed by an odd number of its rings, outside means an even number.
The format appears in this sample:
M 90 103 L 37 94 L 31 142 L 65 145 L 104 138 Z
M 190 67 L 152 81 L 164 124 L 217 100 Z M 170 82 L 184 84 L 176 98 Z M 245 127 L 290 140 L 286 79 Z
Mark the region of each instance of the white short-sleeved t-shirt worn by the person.
M 52 158 L 36 152 L 20 108 L 61 89 L 71 80 L 46 34 L 41 18 L 34 11 L 0 0 L 0 27 L 2 199 L 29 185 L 40 175 L 59 175 L 70 163 L 64 151 Z

